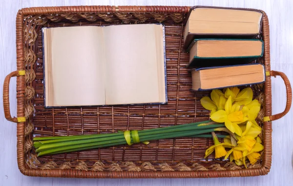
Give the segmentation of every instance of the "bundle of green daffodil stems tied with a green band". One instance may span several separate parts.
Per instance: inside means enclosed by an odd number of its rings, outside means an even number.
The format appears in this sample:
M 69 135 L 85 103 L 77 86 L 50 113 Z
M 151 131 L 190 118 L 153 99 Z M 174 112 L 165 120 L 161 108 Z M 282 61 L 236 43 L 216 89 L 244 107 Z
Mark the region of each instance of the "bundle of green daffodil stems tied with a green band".
M 38 156 L 42 156 L 125 144 L 131 145 L 133 141 L 138 143 L 174 137 L 211 137 L 210 134 L 205 133 L 217 131 L 218 128 L 224 126 L 224 124 L 213 121 L 202 121 L 157 129 L 136 130 L 136 134 L 131 130 L 131 132 L 128 132 L 129 136 L 127 136 L 129 138 L 128 143 L 126 142 L 126 132 L 122 131 L 78 136 L 34 137 L 33 141 Z M 136 135 L 135 140 L 133 140 L 134 135 Z

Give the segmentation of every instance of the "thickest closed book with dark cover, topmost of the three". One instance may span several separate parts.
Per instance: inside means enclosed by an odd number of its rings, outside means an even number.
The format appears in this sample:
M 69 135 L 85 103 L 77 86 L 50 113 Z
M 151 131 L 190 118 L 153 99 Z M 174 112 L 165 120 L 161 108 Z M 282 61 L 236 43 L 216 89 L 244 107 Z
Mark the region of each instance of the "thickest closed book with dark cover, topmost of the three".
M 185 25 L 184 48 L 194 38 L 253 38 L 260 33 L 262 16 L 253 9 L 194 6 Z

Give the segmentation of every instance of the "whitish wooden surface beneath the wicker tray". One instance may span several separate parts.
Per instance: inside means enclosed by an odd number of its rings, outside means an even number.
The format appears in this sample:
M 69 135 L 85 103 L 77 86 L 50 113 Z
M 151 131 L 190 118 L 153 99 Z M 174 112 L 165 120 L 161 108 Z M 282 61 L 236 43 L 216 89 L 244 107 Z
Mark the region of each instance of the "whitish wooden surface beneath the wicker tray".
M 1 0 L 0 1 L 0 92 L 5 75 L 16 70 L 15 18 L 17 11 L 33 6 L 69 5 L 211 5 L 264 10 L 270 20 L 272 70 L 288 75 L 293 82 L 293 0 Z M 272 79 L 273 113 L 285 108 L 286 93 L 280 78 Z M 272 168 L 266 176 L 212 179 L 66 179 L 23 176 L 17 166 L 16 124 L 6 121 L 0 99 L 0 185 L 266 185 L 293 186 L 293 114 L 273 122 Z M 10 83 L 10 108 L 16 116 L 16 80 Z

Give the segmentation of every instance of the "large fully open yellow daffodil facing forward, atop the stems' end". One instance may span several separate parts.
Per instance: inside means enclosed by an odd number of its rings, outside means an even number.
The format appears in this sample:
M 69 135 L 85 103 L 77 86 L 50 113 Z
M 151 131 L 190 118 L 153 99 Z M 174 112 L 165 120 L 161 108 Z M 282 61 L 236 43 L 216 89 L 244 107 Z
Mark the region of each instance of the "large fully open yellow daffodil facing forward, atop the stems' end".
M 243 112 L 239 111 L 239 109 L 240 105 L 238 104 L 234 104 L 232 106 L 232 97 L 229 96 L 225 104 L 225 111 L 220 110 L 212 113 L 210 115 L 210 119 L 218 123 L 225 123 L 227 129 L 239 136 L 242 136 L 242 130 L 237 124 L 247 121 L 248 118 L 245 117 Z

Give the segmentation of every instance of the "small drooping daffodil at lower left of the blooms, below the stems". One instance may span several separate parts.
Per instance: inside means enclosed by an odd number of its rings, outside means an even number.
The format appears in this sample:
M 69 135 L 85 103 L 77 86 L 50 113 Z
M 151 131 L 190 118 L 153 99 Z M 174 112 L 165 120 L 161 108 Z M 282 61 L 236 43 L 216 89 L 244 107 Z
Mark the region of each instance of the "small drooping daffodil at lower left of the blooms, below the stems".
M 227 143 L 220 143 L 214 132 L 211 132 L 211 135 L 215 145 L 209 147 L 209 149 L 206 150 L 205 158 L 208 157 L 209 154 L 211 154 L 213 151 L 215 151 L 215 158 L 220 158 L 225 156 L 227 154 L 225 147 L 230 148 L 230 147 L 233 147 L 233 145 L 227 144 Z

